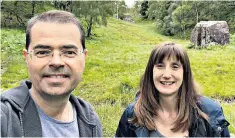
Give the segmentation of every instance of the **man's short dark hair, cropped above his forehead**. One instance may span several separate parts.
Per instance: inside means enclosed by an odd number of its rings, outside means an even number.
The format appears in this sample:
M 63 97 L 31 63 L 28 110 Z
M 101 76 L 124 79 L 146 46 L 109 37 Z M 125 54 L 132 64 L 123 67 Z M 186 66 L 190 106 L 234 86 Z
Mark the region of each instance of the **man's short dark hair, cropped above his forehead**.
M 85 35 L 84 35 L 84 30 L 79 22 L 79 20 L 76 18 L 76 16 L 70 12 L 66 11 L 59 11 L 59 10 L 51 10 L 44 12 L 38 16 L 35 16 L 31 18 L 28 23 L 27 23 L 27 28 L 26 28 L 26 45 L 25 48 L 28 50 L 30 42 L 31 42 L 31 29 L 33 25 L 35 25 L 37 22 L 49 22 L 49 23 L 60 23 L 60 24 L 66 24 L 66 23 L 73 23 L 75 24 L 81 34 L 81 44 L 83 49 L 86 49 L 85 46 Z

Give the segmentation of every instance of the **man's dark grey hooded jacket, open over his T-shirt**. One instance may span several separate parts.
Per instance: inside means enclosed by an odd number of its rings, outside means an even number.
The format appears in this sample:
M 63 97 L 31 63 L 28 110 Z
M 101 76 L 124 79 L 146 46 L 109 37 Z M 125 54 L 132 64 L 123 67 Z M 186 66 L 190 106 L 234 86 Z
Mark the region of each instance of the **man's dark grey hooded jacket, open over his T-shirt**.
M 42 127 L 36 105 L 29 94 L 32 83 L 1 94 L 1 137 L 42 137 Z M 80 137 L 102 137 L 100 119 L 91 106 L 71 95 L 75 106 Z

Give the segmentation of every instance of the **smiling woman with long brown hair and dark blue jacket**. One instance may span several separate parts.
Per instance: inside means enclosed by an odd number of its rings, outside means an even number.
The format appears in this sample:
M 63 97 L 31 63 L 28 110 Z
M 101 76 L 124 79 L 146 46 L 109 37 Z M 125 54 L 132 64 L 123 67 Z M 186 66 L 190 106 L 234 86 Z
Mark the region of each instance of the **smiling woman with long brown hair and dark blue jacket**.
M 229 137 L 228 125 L 222 108 L 199 95 L 186 51 L 165 43 L 153 49 L 116 137 Z

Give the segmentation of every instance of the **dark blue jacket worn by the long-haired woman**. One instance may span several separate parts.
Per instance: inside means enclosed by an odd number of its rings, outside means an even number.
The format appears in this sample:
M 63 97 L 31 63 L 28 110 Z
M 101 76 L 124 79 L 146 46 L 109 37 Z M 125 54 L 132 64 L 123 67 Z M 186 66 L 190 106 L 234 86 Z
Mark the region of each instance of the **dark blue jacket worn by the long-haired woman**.
M 116 131 L 116 137 L 149 137 L 150 131 L 146 127 L 135 126 L 128 122 L 134 116 L 135 103 L 130 104 L 124 111 Z M 225 120 L 221 106 L 203 96 L 200 97 L 198 106 L 208 115 L 209 121 L 203 119 L 197 110 L 193 110 L 193 122 L 189 128 L 189 137 L 230 137 L 227 127 L 229 123 Z

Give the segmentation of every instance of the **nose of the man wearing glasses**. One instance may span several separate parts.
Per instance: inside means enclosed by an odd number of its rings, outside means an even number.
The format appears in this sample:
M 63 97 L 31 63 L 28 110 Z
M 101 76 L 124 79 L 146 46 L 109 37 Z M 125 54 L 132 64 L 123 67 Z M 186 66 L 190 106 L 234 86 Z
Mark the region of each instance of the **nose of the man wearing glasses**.
M 52 54 L 49 66 L 54 66 L 54 67 L 64 66 L 64 61 L 62 59 L 60 52 L 54 52 Z

